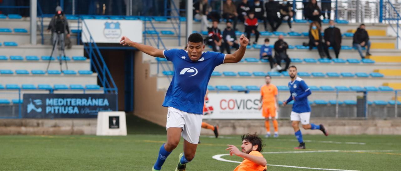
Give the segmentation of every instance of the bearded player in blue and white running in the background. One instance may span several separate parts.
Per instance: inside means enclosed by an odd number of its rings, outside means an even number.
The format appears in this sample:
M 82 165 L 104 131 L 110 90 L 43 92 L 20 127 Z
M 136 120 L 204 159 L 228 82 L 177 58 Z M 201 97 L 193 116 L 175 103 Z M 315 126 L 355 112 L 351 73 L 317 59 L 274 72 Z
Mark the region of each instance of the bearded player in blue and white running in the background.
M 314 123 L 309 123 L 310 118 L 310 105 L 308 101 L 308 95 L 312 94 L 308 85 L 302 78 L 297 77 L 297 68 L 295 66 L 290 66 L 288 68 L 288 74 L 290 74 L 291 81 L 288 83 L 290 88 L 290 98 L 284 101 L 283 104 L 286 105 L 294 100 L 291 111 L 291 121 L 292 127 L 295 131 L 295 136 L 298 139 L 300 145 L 295 147 L 295 149 L 305 149 L 305 143 L 302 139 L 302 133 L 299 128 L 299 123 L 301 122 L 304 129 L 320 129 L 324 135 L 328 135 L 326 129 L 322 124 L 315 125 Z

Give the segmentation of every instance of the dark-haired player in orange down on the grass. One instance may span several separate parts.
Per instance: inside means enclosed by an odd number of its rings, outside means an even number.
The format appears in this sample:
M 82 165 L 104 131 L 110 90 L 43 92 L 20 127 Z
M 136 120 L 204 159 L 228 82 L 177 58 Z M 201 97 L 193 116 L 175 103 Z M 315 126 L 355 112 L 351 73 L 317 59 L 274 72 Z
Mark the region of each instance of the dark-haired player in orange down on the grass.
M 230 155 L 237 155 L 244 158 L 234 171 L 265 171 L 267 170 L 266 159 L 262 153 L 262 139 L 255 134 L 242 135 L 241 151 L 235 145 L 229 146 L 226 150 L 230 150 Z

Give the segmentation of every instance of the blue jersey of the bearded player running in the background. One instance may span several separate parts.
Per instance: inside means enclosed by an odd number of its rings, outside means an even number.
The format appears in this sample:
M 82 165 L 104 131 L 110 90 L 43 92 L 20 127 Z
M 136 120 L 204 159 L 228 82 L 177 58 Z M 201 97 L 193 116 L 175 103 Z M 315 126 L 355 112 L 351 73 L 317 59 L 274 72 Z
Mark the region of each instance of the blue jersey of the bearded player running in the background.
M 310 112 L 310 105 L 308 101 L 308 97 L 304 97 L 301 99 L 298 99 L 297 96 L 299 97 L 303 93 L 306 93 L 306 91 L 310 91 L 308 85 L 306 85 L 305 81 L 302 80 L 302 78 L 297 77 L 294 82 L 289 82 L 288 87 L 290 88 L 290 93 L 292 97 L 295 97 L 294 104 L 292 105 L 292 111 L 296 113 L 304 113 L 304 112 Z

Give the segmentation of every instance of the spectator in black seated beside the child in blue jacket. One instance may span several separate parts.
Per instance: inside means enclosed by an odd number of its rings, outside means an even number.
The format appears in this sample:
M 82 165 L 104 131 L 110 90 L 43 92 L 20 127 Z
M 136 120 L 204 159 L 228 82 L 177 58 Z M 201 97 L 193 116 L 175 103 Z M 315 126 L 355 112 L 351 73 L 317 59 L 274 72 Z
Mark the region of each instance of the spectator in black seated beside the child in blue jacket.
M 291 59 L 287 54 L 288 44 L 284 42 L 284 36 L 278 36 L 277 42 L 274 43 L 274 58 L 277 62 L 277 65 L 281 66 L 281 60 L 286 61 L 286 68 L 279 70 L 278 72 L 287 71 L 288 66 L 290 66 Z

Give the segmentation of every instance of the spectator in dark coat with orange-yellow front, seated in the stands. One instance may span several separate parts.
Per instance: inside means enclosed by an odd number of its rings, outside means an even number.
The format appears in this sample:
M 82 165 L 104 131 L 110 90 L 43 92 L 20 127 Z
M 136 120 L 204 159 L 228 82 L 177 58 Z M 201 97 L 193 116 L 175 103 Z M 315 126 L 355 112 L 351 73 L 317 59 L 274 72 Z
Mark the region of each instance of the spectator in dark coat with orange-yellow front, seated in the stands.
M 322 43 L 322 34 L 320 32 L 320 25 L 317 21 L 310 23 L 309 25 L 309 50 L 312 50 L 313 47 L 318 48 L 320 58 L 325 58 Z

